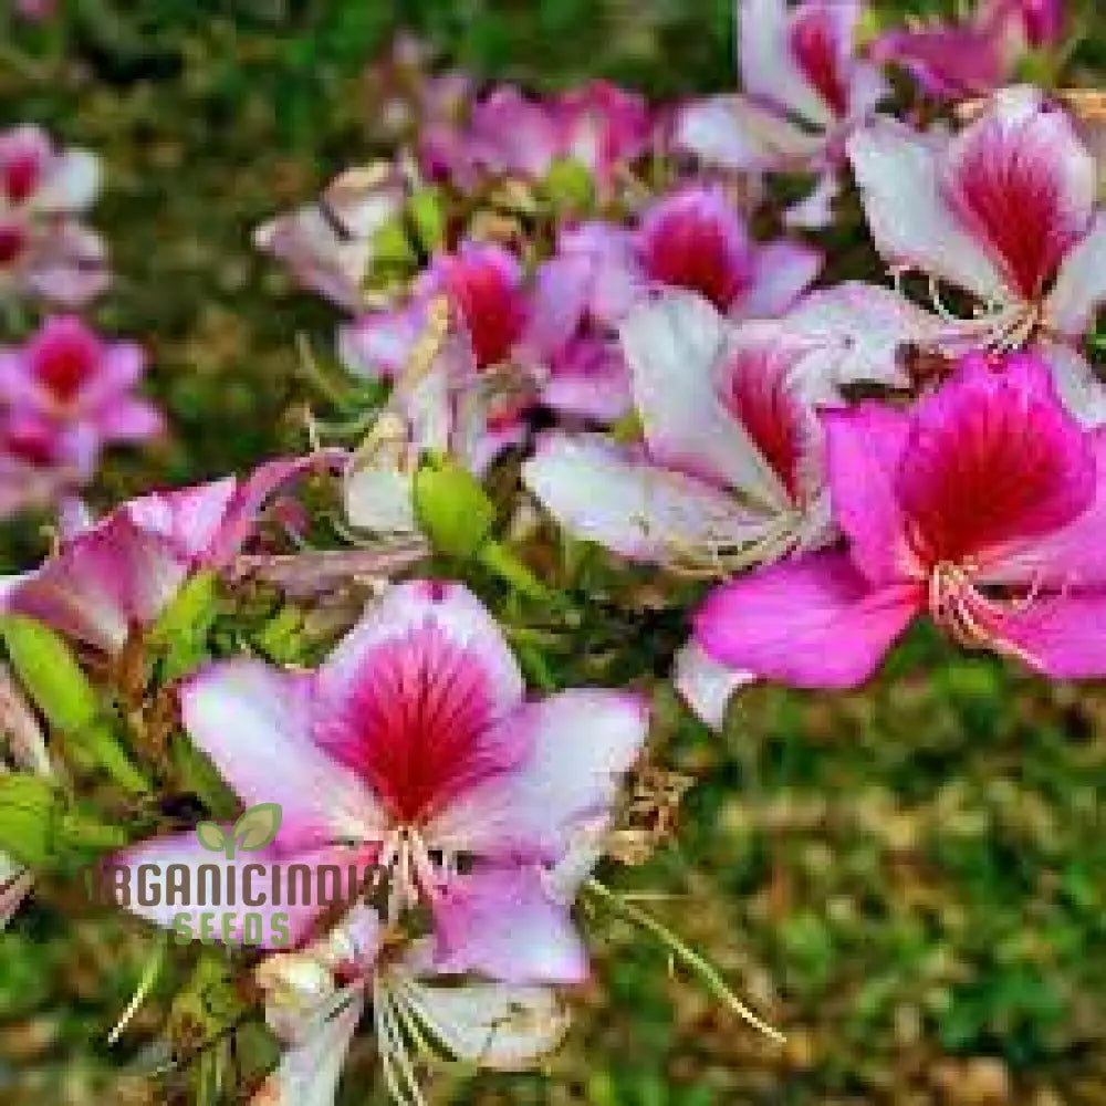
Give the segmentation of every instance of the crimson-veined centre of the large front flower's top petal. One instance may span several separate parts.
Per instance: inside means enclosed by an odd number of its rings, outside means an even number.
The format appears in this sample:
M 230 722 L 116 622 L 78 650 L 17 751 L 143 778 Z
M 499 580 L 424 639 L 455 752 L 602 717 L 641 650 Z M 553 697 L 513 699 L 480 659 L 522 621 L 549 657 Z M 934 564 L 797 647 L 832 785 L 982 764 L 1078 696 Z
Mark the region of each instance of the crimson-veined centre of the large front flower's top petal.
M 479 658 L 427 623 L 366 653 L 316 737 L 369 783 L 397 824 L 417 825 L 511 766 L 490 737 L 492 705 Z

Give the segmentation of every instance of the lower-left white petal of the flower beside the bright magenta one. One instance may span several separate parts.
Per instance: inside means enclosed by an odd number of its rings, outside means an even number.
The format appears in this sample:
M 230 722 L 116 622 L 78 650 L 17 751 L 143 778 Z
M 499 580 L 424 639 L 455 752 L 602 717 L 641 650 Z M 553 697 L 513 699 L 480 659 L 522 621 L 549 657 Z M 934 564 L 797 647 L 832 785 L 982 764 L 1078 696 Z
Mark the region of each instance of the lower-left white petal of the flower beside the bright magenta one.
M 695 477 L 633 460 L 594 437 L 544 436 L 522 476 L 570 533 L 635 561 L 711 562 L 755 544 L 772 521 Z

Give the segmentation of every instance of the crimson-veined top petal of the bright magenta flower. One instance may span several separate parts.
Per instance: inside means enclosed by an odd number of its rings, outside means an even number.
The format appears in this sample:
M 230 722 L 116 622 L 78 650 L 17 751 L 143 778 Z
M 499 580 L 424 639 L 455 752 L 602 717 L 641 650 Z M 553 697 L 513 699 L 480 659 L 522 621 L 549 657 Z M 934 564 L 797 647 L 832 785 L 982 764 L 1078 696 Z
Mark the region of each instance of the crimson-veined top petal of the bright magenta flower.
M 926 565 L 970 562 L 1091 504 L 1094 453 L 1047 374 L 1027 355 L 975 356 L 919 404 L 897 487 Z

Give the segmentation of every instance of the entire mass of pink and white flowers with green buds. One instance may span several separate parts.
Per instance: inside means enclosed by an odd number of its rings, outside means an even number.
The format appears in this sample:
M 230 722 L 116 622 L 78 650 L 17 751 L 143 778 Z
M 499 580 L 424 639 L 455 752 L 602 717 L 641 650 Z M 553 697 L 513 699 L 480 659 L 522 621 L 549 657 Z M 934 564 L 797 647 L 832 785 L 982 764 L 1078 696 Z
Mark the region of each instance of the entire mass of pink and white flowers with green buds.
M 995 0 L 876 34 L 845 0 L 737 14 L 741 91 L 668 108 L 603 82 L 478 94 L 401 41 L 372 75 L 394 159 L 257 232 L 341 313 L 333 356 L 301 344 L 330 405 L 303 456 L 66 510 L 3 586 L 21 771 L 0 778 L 0 909 L 92 849 L 121 904 L 204 939 L 208 904 L 147 875 L 199 884 L 226 845 L 272 893 L 218 930 L 283 1050 L 254 1106 L 332 1102 L 369 1006 L 399 1103 L 432 1056 L 533 1063 L 588 974 L 582 898 L 720 992 L 598 878 L 664 845 L 625 784 L 668 681 L 719 728 L 753 680 L 858 685 L 916 616 L 1047 677 L 1106 675 L 1099 170 L 1065 102 L 1006 84 L 1060 64 L 1063 12 Z M 917 111 L 894 114 L 889 63 Z M 35 250 L 74 232 L 86 159 L 24 129 L 0 169 Z M 778 187 L 796 174 L 797 202 Z M 836 279 L 842 241 L 887 279 Z M 45 255 L 13 271 L 56 292 Z M 140 371 L 72 317 L 4 349 L 13 488 L 56 499 L 59 471 L 83 482 L 105 444 L 156 432 Z M 634 637 L 655 662 L 628 671 Z M 41 839 L 8 832 L 29 804 Z M 373 878 L 296 895 L 294 874 L 349 870 Z M 170 1044 L 179 1074 L 204 1042 Z

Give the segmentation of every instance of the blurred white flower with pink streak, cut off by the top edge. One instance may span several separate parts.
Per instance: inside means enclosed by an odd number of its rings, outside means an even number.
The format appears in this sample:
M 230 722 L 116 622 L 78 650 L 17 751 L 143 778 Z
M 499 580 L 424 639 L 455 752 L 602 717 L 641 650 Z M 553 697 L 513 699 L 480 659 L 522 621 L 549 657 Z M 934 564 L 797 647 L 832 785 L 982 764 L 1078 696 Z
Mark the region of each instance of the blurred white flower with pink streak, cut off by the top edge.
M 815 192 L 792 209 L 799 226 L 831 219 L 844 143 L 883 97 L 878 69 L 854 55 L 854 0 L 738 0 L 738 62 L 744 94 L 688 104 L 677 146 L 739 170 L 810 170 Z

